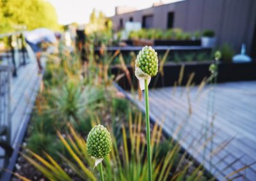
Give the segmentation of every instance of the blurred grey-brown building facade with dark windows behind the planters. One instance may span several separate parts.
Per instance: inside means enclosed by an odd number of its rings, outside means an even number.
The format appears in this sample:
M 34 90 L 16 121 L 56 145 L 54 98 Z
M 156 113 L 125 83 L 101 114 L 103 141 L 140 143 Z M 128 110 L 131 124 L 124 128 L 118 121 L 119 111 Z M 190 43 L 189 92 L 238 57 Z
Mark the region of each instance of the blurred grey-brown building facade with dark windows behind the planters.
M 114 30 L 122 29 L 127 21 L 141 22 L 144 28 L 177 27 L 188 32 L 211 29 L 217 45 L 228 43 L 239 52 L 245 43 L 246 52 L 255 57 L 255 0 L 185 0 L 128 13 L 118 11 L 111 20 Z

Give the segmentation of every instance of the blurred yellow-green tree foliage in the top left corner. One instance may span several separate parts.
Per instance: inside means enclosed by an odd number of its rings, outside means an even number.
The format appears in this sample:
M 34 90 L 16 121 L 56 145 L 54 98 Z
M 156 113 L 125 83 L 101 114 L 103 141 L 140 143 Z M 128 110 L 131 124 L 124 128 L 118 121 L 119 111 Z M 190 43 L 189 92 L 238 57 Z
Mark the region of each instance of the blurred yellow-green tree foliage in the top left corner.
M 44 0 L 0 0 L 0 33 L 24 27 L 58 29 L 56 10 Z

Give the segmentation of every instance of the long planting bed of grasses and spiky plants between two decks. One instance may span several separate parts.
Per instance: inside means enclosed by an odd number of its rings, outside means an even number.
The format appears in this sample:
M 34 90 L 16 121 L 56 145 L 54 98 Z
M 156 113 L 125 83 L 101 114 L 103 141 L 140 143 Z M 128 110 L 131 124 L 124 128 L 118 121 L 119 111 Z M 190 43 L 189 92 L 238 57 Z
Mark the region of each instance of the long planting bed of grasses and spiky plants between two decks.
M 108 59 L 103 52 L 97 61 L 90 48 L 84 64 L 65 49 L 58 57 L 49 57 L 12 180 L 148 180 L 148 143 L 152 180 L 212 178 L 179 143 L 163 134 L 161 125 L 147 122 L 146 129 L 143 113 L 115 89 L 109 61 L 119 52 Z M 101 166 L 93 169 L 91 156 L 98 156 L 99 150 L 88 150 L 94 142 L 87 144 L 86 139 L 92 139 L 88 134 L 99 124 L 108 129 L 112 148 Z

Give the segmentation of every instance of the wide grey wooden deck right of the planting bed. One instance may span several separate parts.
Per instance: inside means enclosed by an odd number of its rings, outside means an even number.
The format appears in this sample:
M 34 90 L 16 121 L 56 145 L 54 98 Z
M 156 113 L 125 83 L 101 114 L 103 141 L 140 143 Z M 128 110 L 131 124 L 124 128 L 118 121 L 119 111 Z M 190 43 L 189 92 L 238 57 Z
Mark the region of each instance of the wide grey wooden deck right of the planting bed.
M 126 95 L 145 110 L 144 99 Z M 256 161 L 256 82 L 220 83 L 202 91 L 198 87 L 150 89 L 149 102 L 150 118 L 163 122 L 164 131 L 216 178 L 225 180 Z M 229 178 L 235 177 L 255 180 L 256 164 Z

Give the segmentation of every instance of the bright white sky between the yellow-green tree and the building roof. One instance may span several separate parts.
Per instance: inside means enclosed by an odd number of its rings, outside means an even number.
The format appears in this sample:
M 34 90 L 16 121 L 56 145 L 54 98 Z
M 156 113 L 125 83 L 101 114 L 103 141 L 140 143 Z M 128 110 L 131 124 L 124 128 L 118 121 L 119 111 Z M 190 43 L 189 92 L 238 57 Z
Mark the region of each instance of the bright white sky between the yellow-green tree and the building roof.
M 115 14 L 116 6 L 134 6 L 138 10 L 149 8 L 157 0 L 48 0 L 56 8 L 60 24 L 88 22 L 93 8 L 102 10 L 107 16 Z M 163 3 L 172 3 L 179 0 L 163 0 Z

